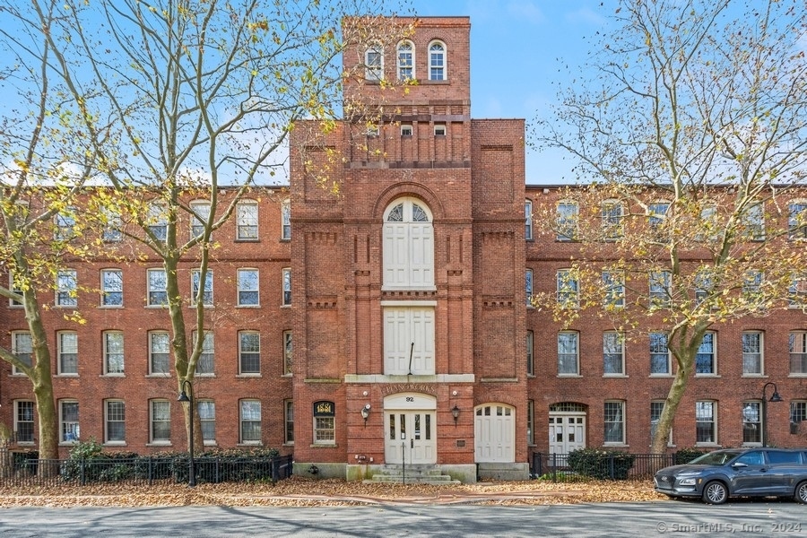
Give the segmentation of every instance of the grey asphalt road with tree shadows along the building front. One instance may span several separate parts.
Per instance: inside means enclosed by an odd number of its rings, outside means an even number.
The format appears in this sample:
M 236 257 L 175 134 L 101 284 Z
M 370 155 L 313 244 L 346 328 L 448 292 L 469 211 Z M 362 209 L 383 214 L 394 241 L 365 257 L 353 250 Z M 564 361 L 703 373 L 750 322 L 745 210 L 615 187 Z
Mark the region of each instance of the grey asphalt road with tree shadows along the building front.
M 807 536 L 794 502 L 327 508 L 3 508 L 6 537 Z

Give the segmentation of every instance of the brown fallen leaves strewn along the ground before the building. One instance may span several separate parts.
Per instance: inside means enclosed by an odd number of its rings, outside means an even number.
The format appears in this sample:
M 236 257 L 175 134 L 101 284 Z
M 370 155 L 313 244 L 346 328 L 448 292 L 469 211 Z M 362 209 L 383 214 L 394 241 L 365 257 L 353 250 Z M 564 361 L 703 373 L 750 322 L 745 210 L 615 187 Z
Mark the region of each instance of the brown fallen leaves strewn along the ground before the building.
M 648 482 L 553 483 L 479 482 L 430 485 L 345 482 L 292 476 L 276 483 L 200 483 L 195 488 L 163 482 L 150 485 L 2 487 L 0 507 L 152 507 L 152 506 L 356 506 L 367 504 L 458 502 L 494 505 L 549 505 L 581 502 L 666 499 Z

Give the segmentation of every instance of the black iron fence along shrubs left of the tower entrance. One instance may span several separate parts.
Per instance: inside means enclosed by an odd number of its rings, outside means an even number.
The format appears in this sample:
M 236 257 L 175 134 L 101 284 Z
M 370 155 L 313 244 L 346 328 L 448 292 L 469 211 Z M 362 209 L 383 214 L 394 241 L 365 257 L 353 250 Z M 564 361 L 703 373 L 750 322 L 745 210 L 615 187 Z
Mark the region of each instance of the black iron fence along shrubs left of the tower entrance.
M 0 487 L 129 483 L 149 486 L 155 482 L 187 483 L 186 457 L 137 457 L 45 460 L 4 458 Z M 277 482 L 291 476 L 292 456 L 198 457 L 194 460 L 196 483 Z

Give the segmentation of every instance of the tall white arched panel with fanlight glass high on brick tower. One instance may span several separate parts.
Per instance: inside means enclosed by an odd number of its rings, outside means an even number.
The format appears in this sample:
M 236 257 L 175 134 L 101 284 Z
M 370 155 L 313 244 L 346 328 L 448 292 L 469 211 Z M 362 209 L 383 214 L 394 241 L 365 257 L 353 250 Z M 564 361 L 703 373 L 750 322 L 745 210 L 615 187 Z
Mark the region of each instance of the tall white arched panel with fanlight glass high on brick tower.
M 395 200 L 384 213 L 384 288 L 434 289 L 434 229 L 420 200 Z

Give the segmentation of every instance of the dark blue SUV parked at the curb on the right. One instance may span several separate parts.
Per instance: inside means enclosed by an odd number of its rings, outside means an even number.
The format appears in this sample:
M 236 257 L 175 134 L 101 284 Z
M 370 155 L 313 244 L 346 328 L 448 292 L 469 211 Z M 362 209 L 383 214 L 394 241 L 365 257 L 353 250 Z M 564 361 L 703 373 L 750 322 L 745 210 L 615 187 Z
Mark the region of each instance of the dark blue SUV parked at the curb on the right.
M 807 449 L 716 450 L 655 473 L 655 490 L 670 497 L 793 497 L 807 504 Z

